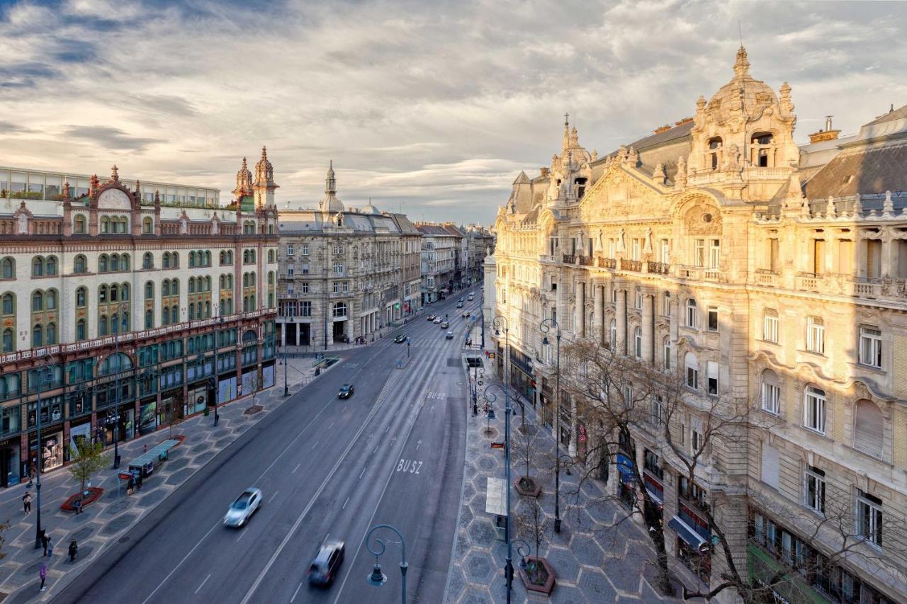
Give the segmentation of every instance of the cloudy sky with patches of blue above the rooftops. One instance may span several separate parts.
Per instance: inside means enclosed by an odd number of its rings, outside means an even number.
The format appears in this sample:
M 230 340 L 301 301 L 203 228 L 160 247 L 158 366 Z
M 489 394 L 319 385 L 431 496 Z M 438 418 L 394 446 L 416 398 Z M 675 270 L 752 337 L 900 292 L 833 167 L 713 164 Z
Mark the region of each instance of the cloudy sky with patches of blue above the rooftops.
M 797 139 L 907 103 L 907 5 L 557 0 L 0 0 L 0 162 L 233 189 L 268 145 L 278 205 L 339 197 L 488 223 L 562 114 L 601 153 L 751 72 Z M 572 120 L 573 118 L 571 118 Z

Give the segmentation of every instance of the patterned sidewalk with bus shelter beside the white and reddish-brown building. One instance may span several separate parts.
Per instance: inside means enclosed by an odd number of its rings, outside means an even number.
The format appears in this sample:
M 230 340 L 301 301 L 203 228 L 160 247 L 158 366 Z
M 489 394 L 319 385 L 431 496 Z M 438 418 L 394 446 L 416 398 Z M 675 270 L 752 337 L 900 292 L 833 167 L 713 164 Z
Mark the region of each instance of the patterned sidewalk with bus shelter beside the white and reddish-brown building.
M 219 424 L 215 427 L 214 415 L 204 414 L 190 417 L 174 425 L 172 434 L 181 434 L 185 440 L 171 450 L 170 458 L 161 463 L 154 473 L 146 478 L 141 492 L 127 495 L 117 473 L 141 455 L 143 446 L 151 446 L 166 440 L 171 431 L 161 428 L 152 434 L 120 445 L 121 469 L 110 466 L 94 475 L 92 485 L 102 487 L 101 498 L 76 516 L 60 510 L 67 497 L 79 490 L 66 468 L 47 474 L 41 483 L 41 522 L 53 540 L 54 557 L 44 558 L 42 550 L 34 549 L 35 509 L 37 499 L 32 492 L 32 513 L 24 515 L 22 496 L 26 484 L 19 484 L 0 493 L 0 521 L 9 520 L 10 528 L 3 533 L 3 558 L 0 564 L 0 600 L 4 604 L 30 601 L 47 601 L 78 573 L 83 565 L 91 564 L 113 541 L 122 537 L 156 505 L 176 491 L 183 482 L 210 462 L 220 451 L 233 443 L 249 427 L 257 424 L 265 415 L 283 404 L 283 367 L 278 365 L 274 386 L 255 396 L 255 404 L 263 409 L 246 415 L 243 412 L 252 404 L 252 395 L 247 395 L 218 407 Z M 296 394 L 313 379 L 314 369 L 297 370 L 290 364 L 288 374 L 290 395 Z M 112 459 L 112 448 L 107 453 Z M 79 553 L 70 563 L 67 549 L 69 542 L 76 540 Z M 41 564 L 47 564 L 47 590 L 40 593 L 38 571 Z M 75 572 L 71 572 L 71 571 Z

